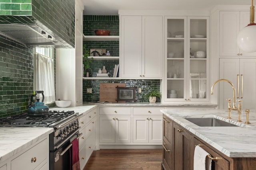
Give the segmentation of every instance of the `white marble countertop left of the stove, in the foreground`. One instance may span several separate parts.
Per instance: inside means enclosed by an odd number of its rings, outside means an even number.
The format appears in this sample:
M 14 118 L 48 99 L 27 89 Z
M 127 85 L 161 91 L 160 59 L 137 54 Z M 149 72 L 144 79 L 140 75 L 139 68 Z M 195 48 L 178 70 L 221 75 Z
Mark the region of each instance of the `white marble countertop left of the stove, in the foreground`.
M 0 164 L 52 132 L 46 127 L 1 127 Z

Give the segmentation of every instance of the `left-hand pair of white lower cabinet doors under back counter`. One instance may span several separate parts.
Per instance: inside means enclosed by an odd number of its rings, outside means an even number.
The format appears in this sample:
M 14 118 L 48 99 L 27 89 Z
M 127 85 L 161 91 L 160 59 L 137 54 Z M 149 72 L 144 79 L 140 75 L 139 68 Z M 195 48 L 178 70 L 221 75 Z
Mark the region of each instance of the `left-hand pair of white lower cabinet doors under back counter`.
M 100 117 L 100 143 L 131 143 L 131 117 Z

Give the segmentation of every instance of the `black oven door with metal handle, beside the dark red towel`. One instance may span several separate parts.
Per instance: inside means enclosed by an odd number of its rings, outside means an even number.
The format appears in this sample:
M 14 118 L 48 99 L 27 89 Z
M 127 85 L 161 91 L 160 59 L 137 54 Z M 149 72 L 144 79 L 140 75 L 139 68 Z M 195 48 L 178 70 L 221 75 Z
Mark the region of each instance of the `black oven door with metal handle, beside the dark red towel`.
M 70 140 L 66 141 L 61 147 L 56 150 L 50 151 L 50 170 L 70 170 L 71 159 L 70 159 L 70 147 L 72 141 L 75 138 L 79 138 L 82 133 L 75 133 Z

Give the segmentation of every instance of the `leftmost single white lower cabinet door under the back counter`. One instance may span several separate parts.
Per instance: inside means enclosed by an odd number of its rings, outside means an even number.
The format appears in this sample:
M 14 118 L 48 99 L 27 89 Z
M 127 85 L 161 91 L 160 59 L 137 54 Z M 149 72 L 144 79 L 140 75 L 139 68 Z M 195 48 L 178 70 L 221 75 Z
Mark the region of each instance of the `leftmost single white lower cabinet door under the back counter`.
M 115 121 L 113 118 L 100 117 L 100 143 L 115 142 Z

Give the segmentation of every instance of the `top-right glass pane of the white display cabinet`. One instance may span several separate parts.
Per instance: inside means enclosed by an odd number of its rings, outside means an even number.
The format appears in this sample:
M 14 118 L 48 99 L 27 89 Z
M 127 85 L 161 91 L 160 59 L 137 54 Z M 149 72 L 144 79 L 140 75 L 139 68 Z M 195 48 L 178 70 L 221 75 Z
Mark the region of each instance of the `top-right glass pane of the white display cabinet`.
M 190 36 L 191 38 L 207 38 L 207 20 L 191 19 Z

